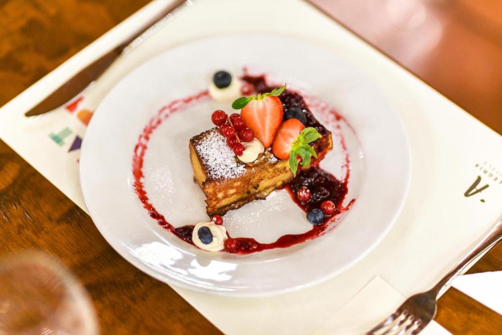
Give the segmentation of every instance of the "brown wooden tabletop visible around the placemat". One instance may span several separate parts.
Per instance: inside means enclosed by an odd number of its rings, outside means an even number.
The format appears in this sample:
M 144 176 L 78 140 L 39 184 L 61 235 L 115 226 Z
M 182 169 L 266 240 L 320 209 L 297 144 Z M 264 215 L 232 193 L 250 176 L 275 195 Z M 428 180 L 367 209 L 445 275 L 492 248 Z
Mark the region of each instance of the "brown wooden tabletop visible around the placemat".
M 375 47 L 502 133 L 502 6 L 490 0 L 315 0 Z M 148 0 L 0 0 L 0 105 Z M 85 284 L 103 333 L 219 333 L 168 285 L 123 260 L 90 217 L 0 141 L 0 256 L 55 255 Z M 502 245 L 470 272 L 502 270 Z M 502 316 L 450 289 L 436 320 L 496 333 Z

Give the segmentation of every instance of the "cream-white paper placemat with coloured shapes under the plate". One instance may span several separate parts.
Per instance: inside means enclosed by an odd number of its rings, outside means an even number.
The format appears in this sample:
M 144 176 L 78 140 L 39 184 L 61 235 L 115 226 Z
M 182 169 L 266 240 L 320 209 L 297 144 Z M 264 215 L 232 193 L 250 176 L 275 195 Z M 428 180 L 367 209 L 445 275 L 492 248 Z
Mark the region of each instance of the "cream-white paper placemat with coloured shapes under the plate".
M 330 326 L 335 324 L 335 312 L 376 275 L 402 296 L 426 289 L 492 225 L 502 199 L 502 138 L 300 0 L 199 0 L 118 60 L 83 99 L 77 97 L 76 103 L 40 118 L 23 116 L 57 84 L 167 3 L 152 2 L 0 109 L 0 137 L 84 210 L 78 144 L 96 101 L 144 60 L 205 36 L 273 32 L 333 49 L 381 87 L 399 110 L 412 148 L 413 177 L 402 214 L 388 237 L 345 273 L 309 289 L 269 298 L 221 298 L 177 290 L 222 331 L 336 332 Z M 484 185 L 489 186 L 476 192 Z

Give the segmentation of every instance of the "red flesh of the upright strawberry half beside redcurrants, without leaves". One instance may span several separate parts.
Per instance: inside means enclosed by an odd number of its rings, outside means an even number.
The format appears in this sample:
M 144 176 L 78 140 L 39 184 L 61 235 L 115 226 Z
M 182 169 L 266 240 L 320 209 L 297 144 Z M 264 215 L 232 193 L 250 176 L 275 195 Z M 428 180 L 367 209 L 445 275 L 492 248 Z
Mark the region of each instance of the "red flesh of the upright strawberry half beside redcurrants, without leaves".
M 283 118 L 282 102 L 277 96 L 266 96 L 249 101 L 241 110 L 246 126 L 253 129 L 255 137 L 269 148 Z

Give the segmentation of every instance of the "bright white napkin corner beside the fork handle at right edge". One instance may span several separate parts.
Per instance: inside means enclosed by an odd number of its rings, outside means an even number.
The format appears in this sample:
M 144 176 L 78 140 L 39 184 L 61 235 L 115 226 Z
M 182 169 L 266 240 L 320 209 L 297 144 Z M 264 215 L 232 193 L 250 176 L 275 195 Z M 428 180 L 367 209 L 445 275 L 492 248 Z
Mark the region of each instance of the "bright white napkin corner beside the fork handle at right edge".
M 502 314 L 502 271 L 463 275 L 456 278 L 452 286 Z

